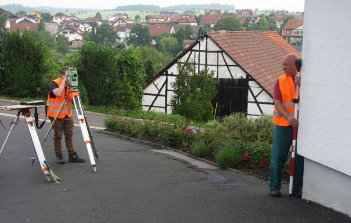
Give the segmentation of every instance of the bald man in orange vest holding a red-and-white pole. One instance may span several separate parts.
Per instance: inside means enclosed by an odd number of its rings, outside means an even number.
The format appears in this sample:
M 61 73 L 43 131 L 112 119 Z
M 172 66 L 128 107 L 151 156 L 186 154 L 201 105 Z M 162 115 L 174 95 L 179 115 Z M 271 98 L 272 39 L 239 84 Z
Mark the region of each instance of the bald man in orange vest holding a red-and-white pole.
M 294 82 L 298 72 L 295 66 L 296 59 L 298 57 L 294 53 L 288 53 L 283 57 L 282 66 L 285 74 L 281 75 L 274 85 L 275 127 L 269 176 L 270 195 L 273 197 L 281 196 L 281 172 L 292 143 L 294 127 L 299 125 L 299 121 L 294 117 L 295 104 L 292 102 L 292 99 L 296 98 Z M 302 197 L 303 174 L 304 157 L 296 153 L 292 195 L 299 198 Z

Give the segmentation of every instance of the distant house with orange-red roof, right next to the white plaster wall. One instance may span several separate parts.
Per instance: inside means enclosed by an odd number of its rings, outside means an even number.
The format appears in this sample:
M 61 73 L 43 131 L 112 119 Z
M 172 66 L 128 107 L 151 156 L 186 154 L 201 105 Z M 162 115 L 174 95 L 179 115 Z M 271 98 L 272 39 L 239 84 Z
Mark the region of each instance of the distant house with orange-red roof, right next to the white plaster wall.
M 281 36 L 291 44 L 302 44 L 303 33 L 303 19 L 289 19 L 281 30 Z

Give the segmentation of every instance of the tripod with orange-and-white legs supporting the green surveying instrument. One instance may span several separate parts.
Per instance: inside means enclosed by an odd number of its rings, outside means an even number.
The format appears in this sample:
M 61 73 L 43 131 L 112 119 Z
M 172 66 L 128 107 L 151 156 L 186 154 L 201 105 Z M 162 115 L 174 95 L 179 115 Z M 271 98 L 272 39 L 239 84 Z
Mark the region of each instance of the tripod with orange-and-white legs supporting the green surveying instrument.
M 93 135 L 91 134 L 88 120 L 87 120 L 87 117 L 86 117 L 84 109 L 83 109 L 82 101 L 79 97 L 79 90 L 75 89 L 75 88 L 70 88 L 69 91 L 73 97 L 73 102 L 74 102 L 74 106 L 76 108 L 78 122 L 79 122 L 81 131 L 82 131 L 82 135 L 83 135 L 83 142 L 87 147 L 87 151 L 88 151 L 91 166 L 93 167 L 93 171 L 96 172 L 96 164 L 95 164 L 94 155 L 95 155 L 96 159 L 99 159 L 99 158 L 98 158 L 97 150 L 96 150 L 96 147 L 95 147 L 95 144 L 93 141 Z M 59 116 L 59 114 L 62 110 L 62 107 L 64 106 L 66 101 L 67 101 L 67 97 L 65 97 L 65 100 L 64 100 L 64 102 L 62 102 L 61 107 L 56 114 L 56 117 L 51 122 L 51 126 L 44 137 L 43 144 L 44 144 L 45 140 L 47 139 L 47 136 L 49 135 L 49 133 L 53 127 L 53 124 L 57 121 L 57 116 Z

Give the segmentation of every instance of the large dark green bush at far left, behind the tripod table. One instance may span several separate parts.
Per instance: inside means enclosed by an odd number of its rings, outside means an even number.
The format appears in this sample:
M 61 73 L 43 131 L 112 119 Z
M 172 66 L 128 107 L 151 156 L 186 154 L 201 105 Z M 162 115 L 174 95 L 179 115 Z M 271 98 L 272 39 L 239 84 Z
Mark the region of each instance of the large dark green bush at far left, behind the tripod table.
M 43 76 L 48 71 L 49 52 L 25 31 L 7 32 L 0 54 L 0 93 L 15 97 L 37 97 L 47 92 Z

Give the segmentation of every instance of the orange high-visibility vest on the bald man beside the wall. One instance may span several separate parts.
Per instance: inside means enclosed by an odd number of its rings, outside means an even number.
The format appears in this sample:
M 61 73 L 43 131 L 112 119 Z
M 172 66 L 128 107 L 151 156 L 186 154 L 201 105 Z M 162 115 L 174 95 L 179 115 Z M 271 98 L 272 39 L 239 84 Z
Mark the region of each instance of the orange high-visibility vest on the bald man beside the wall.
M 283 74 L 279 77 L 279 89 L 281 96 L 283 98 L 282 104 L 290 115 L 294 116 L 295 113 L 295 103 L 292 102 L 293 98 L 296 98 L 296 88 L 294 85 L 294 80 L 292 80 L 290 75 Z M 273 121 L 277 126 L 289 126 L 290 123 L 278 112 L 275 108 L 273 112 Z

